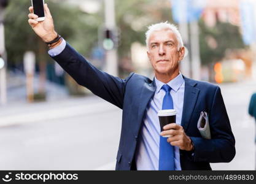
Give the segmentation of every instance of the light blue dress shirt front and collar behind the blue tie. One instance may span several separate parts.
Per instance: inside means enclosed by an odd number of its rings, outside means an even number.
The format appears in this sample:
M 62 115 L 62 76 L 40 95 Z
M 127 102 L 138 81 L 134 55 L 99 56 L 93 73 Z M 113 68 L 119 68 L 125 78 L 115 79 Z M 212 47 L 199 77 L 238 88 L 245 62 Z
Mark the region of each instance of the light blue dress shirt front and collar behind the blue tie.
M 138 148 L 135 155 L 137 170 L 158 170 L 159 160 L 159 142 L 160 142 L 160 123 L 157 116 L 162 109 L 165 91 L 161 89 L 165 83 L 160 82 L 155 77 L 157 89 L 155 95 L 147 105 L 147 112 L 144 117 L 144 123 L 141 128 Z M 167 83 L 172 90 L 170 91 L 173 98 L 174 109 L 177 111 L 176 123 L 181 124 L 185 81 L 181 74 Z M 174 147 L 175 170 L 181 170 L 179 147 Z

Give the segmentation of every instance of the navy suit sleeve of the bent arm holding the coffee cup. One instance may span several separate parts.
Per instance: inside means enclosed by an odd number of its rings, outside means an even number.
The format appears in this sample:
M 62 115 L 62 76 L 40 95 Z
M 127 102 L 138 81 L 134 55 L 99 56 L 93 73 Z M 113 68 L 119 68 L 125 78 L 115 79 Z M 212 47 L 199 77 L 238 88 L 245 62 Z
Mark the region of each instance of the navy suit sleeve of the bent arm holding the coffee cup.
M 230 162 L 236 154 L 235 137 L 231 131 L 227 110 L 219 86 L 215 90 L 209 113 L 212 139 L 190 137 L 195 145 L 193 161 L 209 163 Z

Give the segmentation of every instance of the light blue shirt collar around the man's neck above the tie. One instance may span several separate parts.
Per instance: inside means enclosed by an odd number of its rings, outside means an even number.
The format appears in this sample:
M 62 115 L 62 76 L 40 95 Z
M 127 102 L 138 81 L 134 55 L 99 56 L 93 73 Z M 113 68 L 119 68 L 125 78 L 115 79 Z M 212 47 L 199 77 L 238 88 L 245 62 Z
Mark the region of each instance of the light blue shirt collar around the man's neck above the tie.
M 177 77 L 175 77 L 173 80 L 170 80 L 167 85 L 169 85 L 175 92 L 177 92 L 184 82 L 184 79 L 182 77 L 182 74 L 179 73 Z M 165 83 L 161 82 L 160 80 L 157 80 L 157 77 L 155 77 L 155 85 L 157 86 L 156 93 L 159 93 L 162 86 L 165 85 Z

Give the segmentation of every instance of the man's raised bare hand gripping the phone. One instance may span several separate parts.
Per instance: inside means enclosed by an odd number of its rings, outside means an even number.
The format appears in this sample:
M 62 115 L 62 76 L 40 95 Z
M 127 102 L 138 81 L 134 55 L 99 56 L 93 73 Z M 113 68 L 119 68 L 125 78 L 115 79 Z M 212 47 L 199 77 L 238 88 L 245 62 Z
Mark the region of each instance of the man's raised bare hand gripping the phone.
M 50 10 L 48 9 L 47 4 L 44 4 L 44 21 L 37 21 L 37 19 L 40 17 L 34 14 L 34 9 L 32 6 L 29 7 L 29 12 L 30 13 L 28 15 L 28 23 L 33 28 L 34 32 L 39 37 L 41 37 L 42 40 L 44 40 L 44 42 L 50 42 L 58 36 L 54 29 L 52 15 L 50 13 Z

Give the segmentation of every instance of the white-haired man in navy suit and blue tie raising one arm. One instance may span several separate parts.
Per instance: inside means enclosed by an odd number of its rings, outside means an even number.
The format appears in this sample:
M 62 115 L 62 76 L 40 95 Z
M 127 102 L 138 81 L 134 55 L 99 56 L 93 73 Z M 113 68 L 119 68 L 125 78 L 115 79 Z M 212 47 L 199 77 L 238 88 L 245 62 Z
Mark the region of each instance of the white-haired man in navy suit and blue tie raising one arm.
M 176 26 L 158 23 L 146 33 L 153 80 L 135 73 L 120 79 L 96 69 L 58 37 L 46 4 L 45 21 L 36 21 L 33 7 L 29 11 L 29 25 L 48 44 L 49 55 L 77 83 L 123 110 L 117 170 L 210 170 L 209 163 L 234 158 L 235 138 L 219 86 L 180 74 L 185 48 Z M 160 132 L 157 113 L 166 104 L 176 109 L 176 123 Z M 209 115 L 211 139 L 201 137 L 197 128 L 202 111 Z M 161 142 L 161 136 L 169 137 Z M 173 151 L 165 160 L 160 156 L 163 144 L 169 146 L 166 151 Z M 173 166 L 164 168 L 160 163 Z

